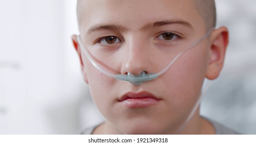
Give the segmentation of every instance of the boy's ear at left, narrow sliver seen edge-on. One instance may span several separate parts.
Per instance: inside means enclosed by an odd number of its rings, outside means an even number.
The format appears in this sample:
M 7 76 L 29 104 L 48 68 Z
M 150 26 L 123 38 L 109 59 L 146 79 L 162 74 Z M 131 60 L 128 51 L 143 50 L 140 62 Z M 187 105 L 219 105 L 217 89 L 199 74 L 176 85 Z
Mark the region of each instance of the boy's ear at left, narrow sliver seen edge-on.
M 82 55 L 81 55 L 81 49 L 79 47 L 79 44 L 78 44 L 78 41 L 77 41 L 77 36 L 76 35 L 72 35 L 72 41 L 73 41 L 73 45 L 75 47 L 75 50 L 79 56 L 79 60 L 80 60 L 80 64 L 81 64 L 81 69 L 82 69 L 82 73 L 83 73 L 83 76 L 84 76 L 84 80 L 86 83 L 88 83 L 88 79 L 87 79 L 87 74 L 86 74 L 86 69 L 84 67 L 84 63 L 83 63 L 83 60 L 82 60 Z

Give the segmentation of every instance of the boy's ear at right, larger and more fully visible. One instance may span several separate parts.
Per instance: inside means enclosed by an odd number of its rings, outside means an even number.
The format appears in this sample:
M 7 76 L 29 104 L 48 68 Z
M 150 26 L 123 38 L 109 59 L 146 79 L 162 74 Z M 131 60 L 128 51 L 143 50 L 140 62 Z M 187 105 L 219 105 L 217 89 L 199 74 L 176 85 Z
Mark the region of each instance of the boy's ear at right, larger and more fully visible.
M 210 57 L 206 78 L 214 80 L 220 75 L 224 64 L 225 52 L 228 44 L 228 30 L 222 26 L 214 30 L 210 37 Z

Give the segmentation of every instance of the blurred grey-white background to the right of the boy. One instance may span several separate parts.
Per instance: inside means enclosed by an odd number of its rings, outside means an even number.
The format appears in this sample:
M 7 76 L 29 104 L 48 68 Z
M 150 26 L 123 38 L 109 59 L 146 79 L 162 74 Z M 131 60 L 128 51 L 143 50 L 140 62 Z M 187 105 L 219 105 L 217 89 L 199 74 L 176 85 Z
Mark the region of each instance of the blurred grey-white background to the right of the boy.
M 201 113 L 243 134 L 256 134 L 256 1 L 217 0 L 218 25 L 230 30 L 225 65 Z

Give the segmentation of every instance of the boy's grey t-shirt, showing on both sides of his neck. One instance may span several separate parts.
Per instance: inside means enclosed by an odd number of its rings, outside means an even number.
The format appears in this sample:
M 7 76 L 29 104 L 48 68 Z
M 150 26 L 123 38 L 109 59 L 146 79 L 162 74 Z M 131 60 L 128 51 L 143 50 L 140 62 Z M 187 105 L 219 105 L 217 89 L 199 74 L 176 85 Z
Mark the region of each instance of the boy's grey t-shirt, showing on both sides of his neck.
M 215 122 L 215 121 L 212 121 L 212 120 L 209 120 L 207 118 L 205 118 L 206 120 L 208 120 L 212 125 L 213 127 L 215 128 L 215 133 L 217 135 L 239 135 L 239 133 L 235 132 L 234 130 L 230 129 L 230 128 L 227 128 L 226 126 L 218 123 L 218 122 Z M 93 130 L 99 125 L 95 125 L 95 126 L 91 126 L 91 127 L 88 127 L 86 129 L 83 130 L 83 132 L 81 133 L 82 135 L 91 135 Z

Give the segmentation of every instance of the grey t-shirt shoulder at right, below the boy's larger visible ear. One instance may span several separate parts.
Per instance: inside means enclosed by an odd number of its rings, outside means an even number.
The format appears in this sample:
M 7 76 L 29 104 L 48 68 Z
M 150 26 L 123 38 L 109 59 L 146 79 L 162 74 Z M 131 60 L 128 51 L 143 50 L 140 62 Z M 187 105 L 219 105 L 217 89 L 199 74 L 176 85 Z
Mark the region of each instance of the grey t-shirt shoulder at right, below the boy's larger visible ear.
M 217 135 L 239 135 L 238 132 L 236 132 L 235 130 L 233 130 L 231 128 L 228 128 L 216 121 L 213 121 L 213 120 L 210 120 L 207 118 L 205 118 L 205 119 L 213 125 L 213 127 L 215 128 L 215 133 Z

